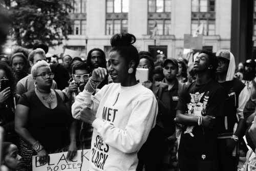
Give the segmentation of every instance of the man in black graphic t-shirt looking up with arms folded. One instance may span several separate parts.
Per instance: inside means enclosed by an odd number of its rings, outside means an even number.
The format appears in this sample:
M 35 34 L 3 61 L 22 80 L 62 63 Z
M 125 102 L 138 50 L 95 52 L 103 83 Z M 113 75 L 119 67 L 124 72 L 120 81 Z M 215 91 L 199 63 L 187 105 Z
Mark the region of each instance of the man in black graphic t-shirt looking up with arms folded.
M 202 50 L 195 60 L 197 80 L 181 92 L 176 121 L 183 124 L 178 149 L 180 171 L 216 170 L 217 124 L 222 117 L 225 91 L 214 80 L 218 60 Z

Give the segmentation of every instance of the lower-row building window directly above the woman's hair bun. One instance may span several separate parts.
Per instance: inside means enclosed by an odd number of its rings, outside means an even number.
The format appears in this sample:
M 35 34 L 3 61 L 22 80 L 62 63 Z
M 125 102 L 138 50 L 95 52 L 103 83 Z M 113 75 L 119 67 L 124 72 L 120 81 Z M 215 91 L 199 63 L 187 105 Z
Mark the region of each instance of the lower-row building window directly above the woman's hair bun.
M 127 32 L 127 19 L 107 19 L 106 20 L 106 35 L 112 35 L 121 32 Z

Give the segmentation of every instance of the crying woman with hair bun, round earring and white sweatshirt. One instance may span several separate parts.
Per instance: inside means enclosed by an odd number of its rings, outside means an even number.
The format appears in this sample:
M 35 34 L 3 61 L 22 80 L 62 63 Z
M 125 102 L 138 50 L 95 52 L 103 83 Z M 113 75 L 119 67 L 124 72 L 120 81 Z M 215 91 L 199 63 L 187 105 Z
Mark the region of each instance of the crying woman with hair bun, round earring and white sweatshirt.
M 107 75 L 106 69 L 95 69 L 72 105 L 73 117 L 94 128 L 90 170 L 136 170 L 137 153 L 156 124 L 156 98 L 136 81 L 139 53 L 135 41 L 129 33 L 111 38 L 108 62 L 113 83 L 93 96 Z

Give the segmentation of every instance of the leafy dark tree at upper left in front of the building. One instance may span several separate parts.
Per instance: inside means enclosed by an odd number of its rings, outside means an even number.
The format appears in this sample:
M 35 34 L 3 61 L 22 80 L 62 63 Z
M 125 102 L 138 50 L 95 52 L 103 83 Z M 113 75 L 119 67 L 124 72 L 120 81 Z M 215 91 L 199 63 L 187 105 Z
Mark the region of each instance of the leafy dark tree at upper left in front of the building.
M 16 44 L 32 48 L 44 43 L 49 47 L 68 39 L 72 21 L 68 9 L 72 0 L 5 0 L 9 4 L 11 35 Z

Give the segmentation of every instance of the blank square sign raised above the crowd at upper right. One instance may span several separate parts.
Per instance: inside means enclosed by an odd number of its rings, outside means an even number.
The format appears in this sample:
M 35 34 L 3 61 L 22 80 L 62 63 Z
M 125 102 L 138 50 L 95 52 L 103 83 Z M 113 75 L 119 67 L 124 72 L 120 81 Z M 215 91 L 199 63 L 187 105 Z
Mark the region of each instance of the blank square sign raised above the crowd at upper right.
M 184 34 L 184 48 L 185 49 L 202 49 L 203 35 L 199 34 L 197 37 L 193 37 L 190 34 Z

